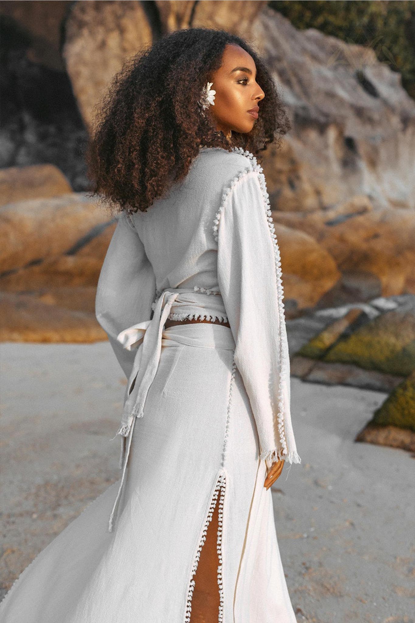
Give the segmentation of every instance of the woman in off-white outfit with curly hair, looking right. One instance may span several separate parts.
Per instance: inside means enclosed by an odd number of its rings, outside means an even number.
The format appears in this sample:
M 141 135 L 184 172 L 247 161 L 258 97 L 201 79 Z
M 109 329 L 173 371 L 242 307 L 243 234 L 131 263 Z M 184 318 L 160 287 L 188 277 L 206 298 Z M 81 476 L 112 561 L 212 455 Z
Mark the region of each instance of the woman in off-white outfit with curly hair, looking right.
M 121 480 L 21 574 L 3 623 L 295 623 L 269 487 L 301 459 L 254 156 L 288 128 L 227 32 L 174 32 L 114 79 L 88 162 L 121 212 L 96 295 L 128 379 Z

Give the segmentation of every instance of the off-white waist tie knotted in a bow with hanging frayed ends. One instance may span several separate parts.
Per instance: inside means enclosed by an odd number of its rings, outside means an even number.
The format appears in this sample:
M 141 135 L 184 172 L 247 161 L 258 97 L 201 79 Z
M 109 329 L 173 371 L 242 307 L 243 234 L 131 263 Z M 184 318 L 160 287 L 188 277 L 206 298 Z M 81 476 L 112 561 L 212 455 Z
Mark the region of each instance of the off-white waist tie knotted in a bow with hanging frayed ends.
M 116 514 L 121 492 L 123 490 L 124 477 L 136 417 L 142 417 L 144 415 L 146 397 L 159 366 L 163 326 L 167 320 L 167 316 L 169 316 L 170 310 L 176 302 L 177 308 L 182 310 L 182 314 L 179 314 L 180 316 L 183 316 L 184 314 L 189 316 L 194 313 L 194 317 L 196 318 L 197 316 L 200 316 L 200 311 L 202 310 L 202 318 L 205 316 L 208 319 L 222 318 L 223 321 L 225 321 L 227 318 L 225 308 L 223 307 L 222 297 L 220 296 L 220 293 L 215 294 L 217 294 L 217 296 L 212 297 L 206 293 L 195 292 L 195 290 L 190 288 L 166 289 L 161 293 L 156 301 L 156 304 L 153 304 L 154 314 L 151 320 L 144 320 L 136 325 L 129 326 L 127 329 L 121 331 L 121 333 L 117 336 L 117 340 L 121 342 L 124 348 L 127 350 L 133 350 L 133 348 L 136 348 L 137 354 L 134 358 L 133 370 L 131 371 L 126 390 L 126 399 L 124 401 L 121 426 L 116 433 L 116 436 L 121 435 L 122 437 L 127 437 L 128 439 L 127 442 L 126 439 L 123 439 L 121 457 L 119 460 L 119 467 L 123 469 L 123 473 L 121 475 L 121 482 L 119 484 L 113 510 L 110 515 L 108 525 L 109 532 L 112 532 L 113 530 L 114 515 Z M 231 335 L 230 329 L 228 327 L 226 328 Z M 233 338 L 231 341 L 233 343 Z M 230 348 L 235 347 L 235 343 L 232 343 Z M 134 387 L 131 389 L 133 383 Z

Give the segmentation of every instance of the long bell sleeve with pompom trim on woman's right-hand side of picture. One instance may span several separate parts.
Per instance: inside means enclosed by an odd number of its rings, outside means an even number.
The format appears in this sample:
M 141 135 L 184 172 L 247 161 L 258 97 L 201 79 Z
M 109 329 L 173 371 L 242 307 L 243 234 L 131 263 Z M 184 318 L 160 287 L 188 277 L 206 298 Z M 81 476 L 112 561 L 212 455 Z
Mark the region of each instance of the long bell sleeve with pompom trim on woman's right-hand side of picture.
M 223 194 L 213 226 L 218 285 L 258 429 L 260 458 L 267 464 L 301 463 L 291 424 L 281 261 L 261 170 L 241 172 Z

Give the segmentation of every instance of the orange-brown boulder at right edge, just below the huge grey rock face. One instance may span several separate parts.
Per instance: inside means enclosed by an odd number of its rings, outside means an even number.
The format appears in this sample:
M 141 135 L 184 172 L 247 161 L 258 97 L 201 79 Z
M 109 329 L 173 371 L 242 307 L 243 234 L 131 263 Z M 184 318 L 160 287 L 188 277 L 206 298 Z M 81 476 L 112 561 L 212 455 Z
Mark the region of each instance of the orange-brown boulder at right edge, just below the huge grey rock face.
M 276 222 L 312 236 L 357 298 L 415 292 L 415 211 L 373 209 L 365 196 L 327 211 L 273 211 Z

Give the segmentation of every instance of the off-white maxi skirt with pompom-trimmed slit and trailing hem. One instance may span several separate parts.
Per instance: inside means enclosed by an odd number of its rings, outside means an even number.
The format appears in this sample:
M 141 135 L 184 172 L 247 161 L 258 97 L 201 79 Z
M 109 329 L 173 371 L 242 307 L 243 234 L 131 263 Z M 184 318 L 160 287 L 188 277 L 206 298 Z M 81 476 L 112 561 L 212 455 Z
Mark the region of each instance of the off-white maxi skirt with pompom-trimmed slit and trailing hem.
M 266 464 L 230 328 L 172 326 L 136 420 L 112 532 L 111 485 L 23 571 L 2 623 L 186 623 L 219 505 L 221 623 L 296 623 Z

